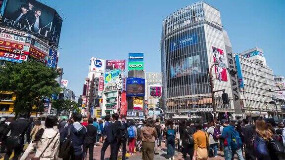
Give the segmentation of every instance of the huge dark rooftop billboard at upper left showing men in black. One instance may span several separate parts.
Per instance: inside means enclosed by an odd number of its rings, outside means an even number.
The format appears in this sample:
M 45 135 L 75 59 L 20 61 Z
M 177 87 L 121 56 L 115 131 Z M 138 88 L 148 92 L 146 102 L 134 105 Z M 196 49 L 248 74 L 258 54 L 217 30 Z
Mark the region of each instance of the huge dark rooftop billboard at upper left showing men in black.
M 62 18 L 53 8 L 36 0 L 8 0 L 2 25 L 28 32 L 57 46 Z

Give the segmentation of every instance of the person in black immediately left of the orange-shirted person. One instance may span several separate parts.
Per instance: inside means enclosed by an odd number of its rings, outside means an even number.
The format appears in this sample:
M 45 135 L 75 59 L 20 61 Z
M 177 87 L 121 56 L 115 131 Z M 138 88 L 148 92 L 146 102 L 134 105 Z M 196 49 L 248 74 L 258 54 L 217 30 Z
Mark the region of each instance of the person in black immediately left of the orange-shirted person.
M 186 129 L 183 132 L 182 135 L 182 146 L 183 149 L 181 153 L 183 154 L 183 158 L 187 158 L 187 154 L 190 155 L 190 158 L 193 157 L 194 154 L 194 139 L 193 139 L 193 134 L 196 132 L 195 127 L 191 125 L 190 121 L 186 122 Z

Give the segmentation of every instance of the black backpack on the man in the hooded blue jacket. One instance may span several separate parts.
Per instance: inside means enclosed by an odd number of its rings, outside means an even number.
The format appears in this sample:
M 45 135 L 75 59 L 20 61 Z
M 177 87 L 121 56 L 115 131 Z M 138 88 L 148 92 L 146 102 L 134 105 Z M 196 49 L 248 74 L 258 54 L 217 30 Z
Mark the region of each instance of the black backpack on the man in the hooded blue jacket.
M 64 142 L 62 143 L 62 145 L 60 146 L 60 149 L 59 149 L 59 155 L 58 157 L 59 158 L 62 158 L 62 159 L 68 159 L 69 156 L 70 156 L 70 151 L 71 151 L 71 148 L 72 148 L 72 140 L 70 138 L 70 130 L 71 130 L 71 127 L 70 126 L 68 128 L 68 134 L 67 134 L 67 137 L 66 139 L 64 140 Z

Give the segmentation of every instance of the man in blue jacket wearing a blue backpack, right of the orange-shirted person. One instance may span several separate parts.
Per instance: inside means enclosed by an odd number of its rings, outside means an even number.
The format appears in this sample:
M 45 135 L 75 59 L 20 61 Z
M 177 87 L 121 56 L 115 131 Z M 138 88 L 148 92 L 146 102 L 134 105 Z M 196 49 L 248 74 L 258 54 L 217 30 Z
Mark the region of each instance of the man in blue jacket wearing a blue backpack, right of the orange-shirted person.
M 224 138 L 224 155 L 225 160 L 232 160 L 234 155 L 238 155 L 238 160 L 243 160 L 241 138 L 233 125 L 226 120 L 224 123 L 222 138 Z

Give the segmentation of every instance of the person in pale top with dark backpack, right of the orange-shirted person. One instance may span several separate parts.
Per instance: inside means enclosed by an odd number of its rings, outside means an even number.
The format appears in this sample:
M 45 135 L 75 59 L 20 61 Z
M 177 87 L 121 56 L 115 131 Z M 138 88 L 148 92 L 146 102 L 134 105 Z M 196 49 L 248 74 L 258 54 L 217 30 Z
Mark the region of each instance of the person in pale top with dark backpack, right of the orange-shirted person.
M 217 157 L 218 155 L 218 143 L 219 138 L 221 137 L 221 132 L 218 128 L 216 128 L 215 123 L 213 121 L 210 122 L 210 127 L 207 129 L 207 133 L 209 134 L 209 157 Z M 214 151 L 214 154 L 213 154 Z

